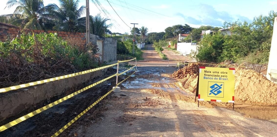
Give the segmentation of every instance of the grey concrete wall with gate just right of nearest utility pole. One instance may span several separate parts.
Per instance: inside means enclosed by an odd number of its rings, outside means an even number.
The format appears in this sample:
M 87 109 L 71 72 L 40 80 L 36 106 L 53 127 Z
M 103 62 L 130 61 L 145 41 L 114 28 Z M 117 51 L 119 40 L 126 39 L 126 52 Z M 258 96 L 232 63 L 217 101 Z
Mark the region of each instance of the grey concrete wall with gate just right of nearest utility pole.
M 90 34 L 90 42 L 98 45 L 99 53 L 102 53 L 102 61 L 111 62 L 116 60 L 116 39 Z

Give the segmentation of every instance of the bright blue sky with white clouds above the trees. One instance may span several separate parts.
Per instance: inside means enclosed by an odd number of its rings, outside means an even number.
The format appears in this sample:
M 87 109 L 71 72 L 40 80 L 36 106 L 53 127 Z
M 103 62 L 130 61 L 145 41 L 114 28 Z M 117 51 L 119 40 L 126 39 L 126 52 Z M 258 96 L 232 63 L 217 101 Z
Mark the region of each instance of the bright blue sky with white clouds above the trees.
M 4 9 L 8 0 L 1 0 L 0 14 L 12 14 L 15 7 Z M 86 5 L 85 0 L 79 0 L 79 6 Z M 251 22 L 253 17 L 268 15 L 270 10 L 277 11 L 277 1 L 274 0 L 98 0 L 109 14 L 105 15 L 89 2 L 90 15 L 100 13 L 102 17 L 110 18 L 112 32 L 130 32 L 130 23 L 139 23 L 136 27 L 145 26 L 149 32 L 161 32 L 168 26 L 188 24 L 192 27 L 201 25 L 222 26 L 224 21 L 236 20 Z M 58 0 L 44 0 L 44 5 L 58 4 Z M 83 15 L 85 16 L 85 15 Z

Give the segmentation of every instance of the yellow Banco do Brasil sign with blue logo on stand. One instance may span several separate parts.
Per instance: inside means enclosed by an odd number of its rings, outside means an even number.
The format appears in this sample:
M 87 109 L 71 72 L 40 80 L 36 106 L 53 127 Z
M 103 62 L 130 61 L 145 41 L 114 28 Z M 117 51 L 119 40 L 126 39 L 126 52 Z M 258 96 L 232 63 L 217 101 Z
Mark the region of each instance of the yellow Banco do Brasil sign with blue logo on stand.
M 235 69 L 200 67 L 199 101 L 234 103 Z

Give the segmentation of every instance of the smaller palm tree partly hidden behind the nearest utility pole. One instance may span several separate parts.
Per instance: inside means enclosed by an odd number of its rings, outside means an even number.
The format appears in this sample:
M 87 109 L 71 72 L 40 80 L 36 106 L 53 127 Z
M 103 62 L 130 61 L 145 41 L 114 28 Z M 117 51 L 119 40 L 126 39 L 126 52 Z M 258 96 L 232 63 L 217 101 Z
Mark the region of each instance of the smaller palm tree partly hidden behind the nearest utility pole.
M 90 16 L 90 31 L 92 34 L 98 36 L 105 36 L 105 31 L 107 28 L 111 27 L 112 24 L 107 24 L 110 19 L 102 18 L 100 14 L 96 16 Z M 86 17 L 78 19 L 78 32 L 86 32 Z

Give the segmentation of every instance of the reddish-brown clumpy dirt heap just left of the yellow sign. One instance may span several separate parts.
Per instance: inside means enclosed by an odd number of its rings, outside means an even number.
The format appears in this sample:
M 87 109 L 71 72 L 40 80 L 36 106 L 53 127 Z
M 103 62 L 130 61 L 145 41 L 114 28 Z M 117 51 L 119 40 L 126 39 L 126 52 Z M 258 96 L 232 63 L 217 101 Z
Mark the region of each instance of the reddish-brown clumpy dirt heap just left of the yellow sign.
M 187 76 L 191 75 L 198 75 L 199 74 L 199 64 L 198 63 L 191 63 L 188 66 L 185 66 L 184 68 L 179 69 L 178 71 L 175 71 L 171 77 L 183 79 Z

